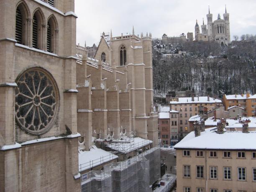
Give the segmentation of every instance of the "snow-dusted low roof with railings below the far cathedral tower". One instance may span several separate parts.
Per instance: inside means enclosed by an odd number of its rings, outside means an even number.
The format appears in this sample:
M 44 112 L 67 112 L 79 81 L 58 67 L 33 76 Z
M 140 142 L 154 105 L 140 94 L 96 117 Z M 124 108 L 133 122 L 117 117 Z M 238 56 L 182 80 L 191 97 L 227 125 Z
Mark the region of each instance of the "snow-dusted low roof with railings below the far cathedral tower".
M 151 140 L 143 139 L 140 137 L 135 137 L 133 139 L 128 138 L 129 142 L 117 142 L 117 143 L 106 143 L 106 146 L 112 148 L 115 151 L 119 151 L 123 154 L 127 154 L 131 151 L 134 151 L 138 148 L 146 146 L 153 143 Z

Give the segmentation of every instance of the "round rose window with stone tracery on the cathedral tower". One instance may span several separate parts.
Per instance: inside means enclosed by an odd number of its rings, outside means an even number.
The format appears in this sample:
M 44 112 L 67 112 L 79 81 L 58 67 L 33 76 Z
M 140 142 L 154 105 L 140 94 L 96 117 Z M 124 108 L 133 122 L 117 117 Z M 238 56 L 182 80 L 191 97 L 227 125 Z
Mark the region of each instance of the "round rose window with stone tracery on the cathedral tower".
M 32 68 L 20 75 L 17 85 L 17 123 L 28 133 L 46 133 L 55 123 L 59 108 L 59 92 L 54 79 L 43 69 Z

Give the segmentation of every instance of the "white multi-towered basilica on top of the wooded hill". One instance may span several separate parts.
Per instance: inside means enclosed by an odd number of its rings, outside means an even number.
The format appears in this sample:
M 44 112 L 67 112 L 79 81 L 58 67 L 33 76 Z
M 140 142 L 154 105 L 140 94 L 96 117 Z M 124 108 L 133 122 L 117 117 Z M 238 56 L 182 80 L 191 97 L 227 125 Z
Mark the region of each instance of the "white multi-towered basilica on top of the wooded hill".
M 221 19 L 220 14 L 218 14 L 218 19 L 212 21 L 212 14 L 206 15 L 207 25 L 205 25 L 204 19 L 203 24 L 200 27 L 196 21 L 195 25 L 195 41 L 217 41 L 220 46 L 227 46 L 230 44 L 230 27 L 229 27 L 229 13 L 225 8 L 225 13 L 223 14 L 223 19 Z

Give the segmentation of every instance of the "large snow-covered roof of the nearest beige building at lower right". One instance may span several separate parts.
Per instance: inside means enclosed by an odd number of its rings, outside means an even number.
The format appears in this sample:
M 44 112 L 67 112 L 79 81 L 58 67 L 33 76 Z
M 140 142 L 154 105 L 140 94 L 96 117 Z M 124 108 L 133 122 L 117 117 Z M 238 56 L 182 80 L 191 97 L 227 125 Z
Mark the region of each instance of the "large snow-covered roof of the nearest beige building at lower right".
M 223 134 L 215 132 L 215 128 L 208 128 L 195 137 L 195 132 L 190 132 L 174 148 L 191 149 L 230 149 L 230 150 L 256 150 L 256 131 L 242 133 L 242 131 L 225 131 Z

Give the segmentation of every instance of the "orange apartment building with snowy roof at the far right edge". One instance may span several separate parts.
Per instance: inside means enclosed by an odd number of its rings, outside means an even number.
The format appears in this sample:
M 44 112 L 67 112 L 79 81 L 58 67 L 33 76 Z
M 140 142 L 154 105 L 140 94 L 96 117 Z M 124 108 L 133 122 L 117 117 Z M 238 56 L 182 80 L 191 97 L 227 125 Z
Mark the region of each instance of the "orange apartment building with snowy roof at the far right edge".
M 225 110 L 233 106 L 239 106 L 243 108 L 244 117 L 255 117 L 255 108 L 256 108 L 256 94 L 251 95 L 250 93 L 241 94 L 241 95 L 224 95 L 223 104 Z

